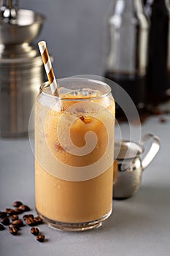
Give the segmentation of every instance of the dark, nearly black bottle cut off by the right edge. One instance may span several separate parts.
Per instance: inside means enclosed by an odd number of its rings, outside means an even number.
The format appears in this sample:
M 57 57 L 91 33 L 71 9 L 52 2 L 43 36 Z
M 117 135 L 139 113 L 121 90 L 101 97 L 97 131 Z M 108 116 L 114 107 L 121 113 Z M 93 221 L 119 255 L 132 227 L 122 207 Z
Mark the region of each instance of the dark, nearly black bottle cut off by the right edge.
M 147 102 L 170 99 L 170 9 L 167 0 L 147 0 L 145 12 L 150 17 Z

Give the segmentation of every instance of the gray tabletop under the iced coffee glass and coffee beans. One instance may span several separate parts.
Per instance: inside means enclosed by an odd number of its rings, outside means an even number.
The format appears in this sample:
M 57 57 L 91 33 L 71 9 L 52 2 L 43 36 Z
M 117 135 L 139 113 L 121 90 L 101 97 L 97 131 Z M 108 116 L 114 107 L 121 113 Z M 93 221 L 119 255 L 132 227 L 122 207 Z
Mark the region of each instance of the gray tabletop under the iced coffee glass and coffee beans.
M 113 213 L 96 230 L 69 233 L 39 226 L 46 236 L 39 243 L 30 227 L 19 236 L 0 231 L 0 255 L 170 255 L 170 118 L 158 117 L 142 125 L 142 134 L 161 138 L 161 150 L 144 170 L 139 192 L 127 200 L 114 200 Z M 121 125 L 123 137 L 127 124 Z M 136 130 L 134 128 L 134 138 Z M 117 133 L 117 128 L 116 128 Z M 22 200 L 34 211 L 34 155 L 28 138 L 0 140 L 0 211 Z

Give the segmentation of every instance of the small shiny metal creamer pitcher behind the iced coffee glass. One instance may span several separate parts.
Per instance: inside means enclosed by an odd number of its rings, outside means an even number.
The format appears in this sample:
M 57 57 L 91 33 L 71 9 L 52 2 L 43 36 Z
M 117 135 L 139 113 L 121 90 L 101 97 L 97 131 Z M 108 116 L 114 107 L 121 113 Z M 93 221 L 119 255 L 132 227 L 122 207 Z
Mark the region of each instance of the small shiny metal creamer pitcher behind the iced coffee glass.
M 144 158 L 144 144 L 151 141 L 151 146 L 145 154 Z M 142 136 L 141 143 L 134 143 L 128 140 L 121 140 L 115 142 L 115 178 L 113 198 L 123 199 L 134 195 L 141 184 L 142 171 L 150 165 L 152 159 L 160 149 L 160 139 L 151 134 Z

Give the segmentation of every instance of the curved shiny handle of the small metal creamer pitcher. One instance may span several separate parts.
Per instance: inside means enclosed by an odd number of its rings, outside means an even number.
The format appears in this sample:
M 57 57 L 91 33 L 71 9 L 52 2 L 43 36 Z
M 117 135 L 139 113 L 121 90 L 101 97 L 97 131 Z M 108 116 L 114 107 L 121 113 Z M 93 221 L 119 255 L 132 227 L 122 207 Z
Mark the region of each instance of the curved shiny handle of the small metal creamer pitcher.
M 152 143 L 146 156 L 144 157 L 144 159 L 142 159 L 142 170 L 144 170 L 148 165 L 150 165 L 150 163 L 154 159 L 155 155 L 158 153 L 161 146 L 160 138 L 149 133 L 147 135 L 142 136 L 140 144 L 144 146 L 144 144 L 147 143 L 148 140 L 152 140 Z

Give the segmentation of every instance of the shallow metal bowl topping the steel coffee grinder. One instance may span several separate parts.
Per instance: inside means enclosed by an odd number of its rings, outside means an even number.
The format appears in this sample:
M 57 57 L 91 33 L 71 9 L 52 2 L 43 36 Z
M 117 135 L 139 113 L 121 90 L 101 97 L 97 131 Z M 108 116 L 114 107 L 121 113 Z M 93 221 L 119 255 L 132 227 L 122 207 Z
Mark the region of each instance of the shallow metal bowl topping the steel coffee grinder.
M 21 45 L 38 37 L 45 16 L 32 10 L 19 9 L 18 0 L 1 1 L 0 45 Z

